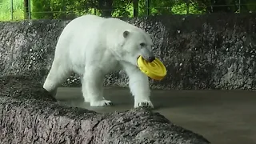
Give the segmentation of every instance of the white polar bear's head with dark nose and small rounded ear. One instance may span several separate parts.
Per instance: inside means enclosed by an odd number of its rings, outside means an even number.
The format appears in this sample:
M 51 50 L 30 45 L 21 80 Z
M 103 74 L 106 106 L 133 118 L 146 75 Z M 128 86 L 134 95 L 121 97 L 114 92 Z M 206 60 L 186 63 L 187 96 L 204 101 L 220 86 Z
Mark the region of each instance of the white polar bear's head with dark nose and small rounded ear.
M 142 56 L 147 62 L 154 61 L 153 42 L 144 30 L 124 30 L 118 46 L 119 60 L 137 66 L 137 59 Z

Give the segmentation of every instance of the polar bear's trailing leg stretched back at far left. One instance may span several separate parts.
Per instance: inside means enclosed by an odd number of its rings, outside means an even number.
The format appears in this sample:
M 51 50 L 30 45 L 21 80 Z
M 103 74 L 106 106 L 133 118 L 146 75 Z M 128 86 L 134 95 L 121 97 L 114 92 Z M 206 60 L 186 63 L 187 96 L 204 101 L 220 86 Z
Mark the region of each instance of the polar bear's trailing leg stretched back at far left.
M 65 82 L 70 74 L 70 70 L 67 69 L 66 66 L 62 66 L 62 64 L 58 62 L 53 62 L 46 81 L 43 84 L 43 88 L 55 97 L 58 86 L 62 84 L 62 82 Z

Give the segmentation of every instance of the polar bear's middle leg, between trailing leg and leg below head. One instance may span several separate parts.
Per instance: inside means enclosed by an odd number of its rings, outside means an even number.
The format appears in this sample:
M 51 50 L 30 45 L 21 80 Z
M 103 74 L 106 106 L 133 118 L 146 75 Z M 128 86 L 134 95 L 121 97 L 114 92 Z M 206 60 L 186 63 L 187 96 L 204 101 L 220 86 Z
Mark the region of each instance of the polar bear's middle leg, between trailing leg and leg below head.
M 112 102 L 103 97 L 104 74 L 101 70 L 87 68 L 83 74 L 82 94 L 90 106 L 111 106 Z

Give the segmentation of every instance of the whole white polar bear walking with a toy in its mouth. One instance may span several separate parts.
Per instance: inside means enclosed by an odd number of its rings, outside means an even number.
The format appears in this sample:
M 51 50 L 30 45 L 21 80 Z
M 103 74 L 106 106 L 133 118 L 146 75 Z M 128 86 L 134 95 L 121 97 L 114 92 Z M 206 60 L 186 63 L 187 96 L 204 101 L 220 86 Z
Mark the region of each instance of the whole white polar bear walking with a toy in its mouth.
M 106 74 L 124 70 L 129 77 L 134 108 L 154 107 L 150 101 L 150 85 L 137 65 L 141 55 L 154 61 L 153 42 L 146 31 L 118 18 L 83 15 L 74 18 L 62 30 L 43 88 L 55 95 L 57 88 L 71 73 L 82 82 L 82 95 L 90 106 L 111 106 L 103 97 Z

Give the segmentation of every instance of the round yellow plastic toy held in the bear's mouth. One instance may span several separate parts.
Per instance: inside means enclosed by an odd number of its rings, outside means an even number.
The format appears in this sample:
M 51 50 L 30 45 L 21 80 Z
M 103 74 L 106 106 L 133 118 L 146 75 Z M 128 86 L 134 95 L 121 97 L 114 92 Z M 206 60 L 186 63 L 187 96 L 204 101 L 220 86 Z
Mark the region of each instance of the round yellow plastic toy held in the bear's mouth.
M 140 56 L 137 63 L 139 69 L 150 78 L 162 80 L 162 78 L 166 76 L 166 67 L 158 58 L 155 58 L 153 62 L 146 62 L 146 60 Z

